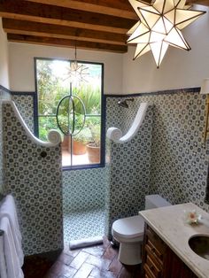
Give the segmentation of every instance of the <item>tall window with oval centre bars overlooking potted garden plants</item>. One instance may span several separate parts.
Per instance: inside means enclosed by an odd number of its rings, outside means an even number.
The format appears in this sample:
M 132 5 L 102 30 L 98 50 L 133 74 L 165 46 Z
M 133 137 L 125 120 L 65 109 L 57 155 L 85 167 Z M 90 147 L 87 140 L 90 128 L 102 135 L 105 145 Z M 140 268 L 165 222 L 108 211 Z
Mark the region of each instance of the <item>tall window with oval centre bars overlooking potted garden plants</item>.
M 103 64 L 78 62 L 84 80 L 70 76 L 72 61 L 35 58 L 35 135 L 62 137 L 62 166 L 104 166 Z

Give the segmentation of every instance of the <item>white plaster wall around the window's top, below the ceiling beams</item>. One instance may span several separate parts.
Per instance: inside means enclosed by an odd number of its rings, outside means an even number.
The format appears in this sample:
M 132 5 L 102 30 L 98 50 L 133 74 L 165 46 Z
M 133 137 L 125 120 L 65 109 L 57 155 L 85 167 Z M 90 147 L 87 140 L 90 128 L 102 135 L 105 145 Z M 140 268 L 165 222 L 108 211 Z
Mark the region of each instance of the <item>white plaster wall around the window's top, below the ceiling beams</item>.
M 12 91 L 35 91 L 34 58 L 74 59 L 74 49 L 9 42 Z M 122 54 L 77 50 L 78 60 L 104 63 L 104 93 L 121 94 Z

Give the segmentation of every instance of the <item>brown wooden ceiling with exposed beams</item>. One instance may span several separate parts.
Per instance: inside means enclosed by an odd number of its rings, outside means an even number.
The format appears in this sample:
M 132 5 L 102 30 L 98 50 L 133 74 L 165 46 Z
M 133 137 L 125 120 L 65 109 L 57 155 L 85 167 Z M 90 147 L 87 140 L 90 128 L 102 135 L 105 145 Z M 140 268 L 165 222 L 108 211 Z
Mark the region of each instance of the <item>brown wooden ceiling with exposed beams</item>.
M 137 21 L 128 0 L 0 0 L 0 17 L 9 42 L 118 53 L 128 50 L 126 33 Z

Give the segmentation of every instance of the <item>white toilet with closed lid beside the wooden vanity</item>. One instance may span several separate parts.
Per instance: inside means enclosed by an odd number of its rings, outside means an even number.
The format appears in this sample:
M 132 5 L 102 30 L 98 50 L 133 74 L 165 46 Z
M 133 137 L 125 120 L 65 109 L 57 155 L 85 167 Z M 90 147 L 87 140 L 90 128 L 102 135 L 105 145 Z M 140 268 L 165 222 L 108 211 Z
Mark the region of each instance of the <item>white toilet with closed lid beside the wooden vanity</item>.
M 145 210 L 168 205 L 171 204 L 158 194 L 145 197 Z M 137 265 L 142 262 L 143 228 L 144 220 L 140 215 L 113 222 L 112 236 L 120 243 L 119 260 L 122 264 Z

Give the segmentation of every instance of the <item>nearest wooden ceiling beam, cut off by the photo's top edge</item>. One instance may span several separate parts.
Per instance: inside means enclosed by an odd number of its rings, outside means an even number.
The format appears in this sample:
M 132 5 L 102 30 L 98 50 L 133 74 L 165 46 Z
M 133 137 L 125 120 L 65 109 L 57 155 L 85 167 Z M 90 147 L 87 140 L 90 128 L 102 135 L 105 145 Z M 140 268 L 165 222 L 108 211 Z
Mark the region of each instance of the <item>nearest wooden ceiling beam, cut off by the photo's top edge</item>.
M 39 4 L 51 4 L 85 12 L 109 14 L 124 19 L 137 19 L 131 4 L 123 0 L 25 0 Z

